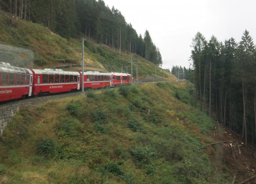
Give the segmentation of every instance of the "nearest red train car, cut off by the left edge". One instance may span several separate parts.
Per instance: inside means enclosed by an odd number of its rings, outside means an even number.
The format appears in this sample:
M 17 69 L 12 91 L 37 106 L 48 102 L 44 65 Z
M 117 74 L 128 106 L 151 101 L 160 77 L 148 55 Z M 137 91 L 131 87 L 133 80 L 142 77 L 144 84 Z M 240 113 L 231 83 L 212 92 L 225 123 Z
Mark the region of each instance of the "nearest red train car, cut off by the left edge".
M 32 78 L 29 69 L 0 62 L 0 102 L 31 96 Z

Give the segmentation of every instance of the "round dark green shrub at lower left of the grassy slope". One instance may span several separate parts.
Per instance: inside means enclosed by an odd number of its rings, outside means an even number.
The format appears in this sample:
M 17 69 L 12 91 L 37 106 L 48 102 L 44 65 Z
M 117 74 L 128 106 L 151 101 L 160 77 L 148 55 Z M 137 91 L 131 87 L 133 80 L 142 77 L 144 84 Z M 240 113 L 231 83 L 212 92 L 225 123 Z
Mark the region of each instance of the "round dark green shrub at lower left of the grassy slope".
M 52 157 L 56 154 L 57 143 L 50 137 L 44 137 L 36 145 L 36 150 L 39 155 Z

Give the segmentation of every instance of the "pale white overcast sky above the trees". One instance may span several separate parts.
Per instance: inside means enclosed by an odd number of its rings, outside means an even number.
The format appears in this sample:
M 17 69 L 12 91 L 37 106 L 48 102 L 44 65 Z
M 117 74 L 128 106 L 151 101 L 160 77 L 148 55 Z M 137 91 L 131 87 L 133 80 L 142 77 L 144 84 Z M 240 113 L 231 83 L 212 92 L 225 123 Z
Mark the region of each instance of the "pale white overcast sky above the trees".
M 199 31 L 209 40 L 233 37 L 245 29 L 256 43 L 256 0 L 104 0 L 118 9 L 138 35 L 149 31 L 160 49 L 164 69 L 189 67 L 192 39 Z

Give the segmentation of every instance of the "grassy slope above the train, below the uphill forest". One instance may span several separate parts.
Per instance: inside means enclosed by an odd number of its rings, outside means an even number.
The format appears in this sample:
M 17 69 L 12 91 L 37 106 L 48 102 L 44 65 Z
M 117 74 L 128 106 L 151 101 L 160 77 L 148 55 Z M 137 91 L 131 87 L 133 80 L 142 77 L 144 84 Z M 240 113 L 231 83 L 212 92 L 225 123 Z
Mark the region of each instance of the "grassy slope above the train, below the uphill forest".
M 64 39 L 59 35 L 52 33 L 42 25 L 31 23 L 24 20 L 12 18 L 8 13 L 0 12 L 0 44 L 11 45 L 23 49 L 30 49 L 34 52 L 34 66 L 23 66 L 35 69 L 44 69 L 60 65 L 74 65 L 80 64 L 81 49 L 74 49 L 76 52 L 67 48 L 81 47 L 80 39 Z M 100 70 L 108 72 L 126 72 L 130 70 L 131 53 L 118 52 L 106 45 L 98 45 L 91 41 L 85 41 L 85 70 Z M 126 59 L 124 61 L 122 59 Z M 66 59 L 66 60 L 60 60 Z M 133 54 L 133 62 L 138 61 L 139 76 L 151 76 L 157 73 L 158 77 L 165 77 L 166 79 L 175 79 L 172 74 L 165 72 L 160 67 L 144 60 L 138 55 Z M 133 64 L 134 76 L 136 63 Z M 64 69 L 64 70 L 81 70 L 79 67 Z

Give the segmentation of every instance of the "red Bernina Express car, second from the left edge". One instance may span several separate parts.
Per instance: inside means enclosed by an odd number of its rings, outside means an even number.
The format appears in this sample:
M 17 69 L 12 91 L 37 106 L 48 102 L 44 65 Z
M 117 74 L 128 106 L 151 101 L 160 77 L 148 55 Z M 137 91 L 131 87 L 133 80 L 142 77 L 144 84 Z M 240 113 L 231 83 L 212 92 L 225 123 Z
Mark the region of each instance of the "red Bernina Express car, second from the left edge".
M 80 89 L 80 73 L 58 69 L 30 69 L 33 73 L 32 93 L 60 93 Z

